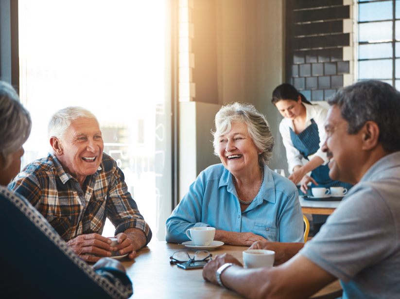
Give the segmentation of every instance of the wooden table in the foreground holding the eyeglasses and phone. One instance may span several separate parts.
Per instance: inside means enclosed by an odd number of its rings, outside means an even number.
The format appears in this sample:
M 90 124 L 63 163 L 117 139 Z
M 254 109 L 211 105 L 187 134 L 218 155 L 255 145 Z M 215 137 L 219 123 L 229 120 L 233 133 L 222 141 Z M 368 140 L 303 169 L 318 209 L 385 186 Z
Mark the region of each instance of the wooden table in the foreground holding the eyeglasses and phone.
M 242 251 L 248 247 L 224 245 L 210 250 L 213 256 L 228 252 L 241 263 Z M 202 269 L 183 270 L 176 265 L 170 265 L 170 256 L 175 251 L 186 250 L 194 253 L 185 246 L 166 243 L 164 241 L 150 242 L 147 247 L 139 250 L 134 261 L 126 258 L 121 262 L 126 273 L 133 282 L 132 298 L 146 299 L 231 299 L 243 298 L 233 291 L 206 282 L 202 276 Z M 318 294 L 326 294 L 340 289 L 338 281 L 327 286 Z

